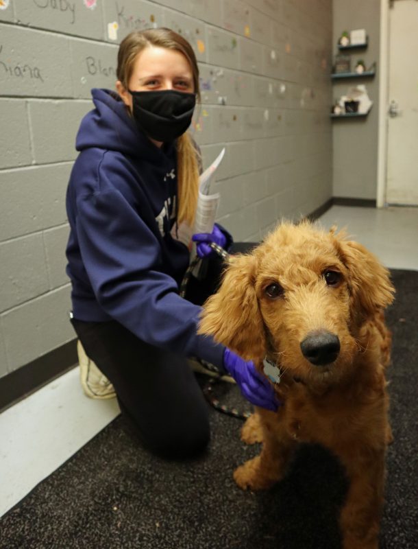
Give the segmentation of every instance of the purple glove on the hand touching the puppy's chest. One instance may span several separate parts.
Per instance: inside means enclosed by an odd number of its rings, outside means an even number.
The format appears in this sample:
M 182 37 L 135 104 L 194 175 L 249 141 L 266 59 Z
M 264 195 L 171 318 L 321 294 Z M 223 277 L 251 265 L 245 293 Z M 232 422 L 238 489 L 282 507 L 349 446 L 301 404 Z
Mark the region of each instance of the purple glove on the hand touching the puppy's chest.
M 227 348 L 223 352 L 223 366 L 235 379 L 241 393 L 251 404 L 272 412 L 278 409 L 279 403 L 275 398 L 273 387 L 268 379 L 257 371 L 254 362 L 243 360 Z

